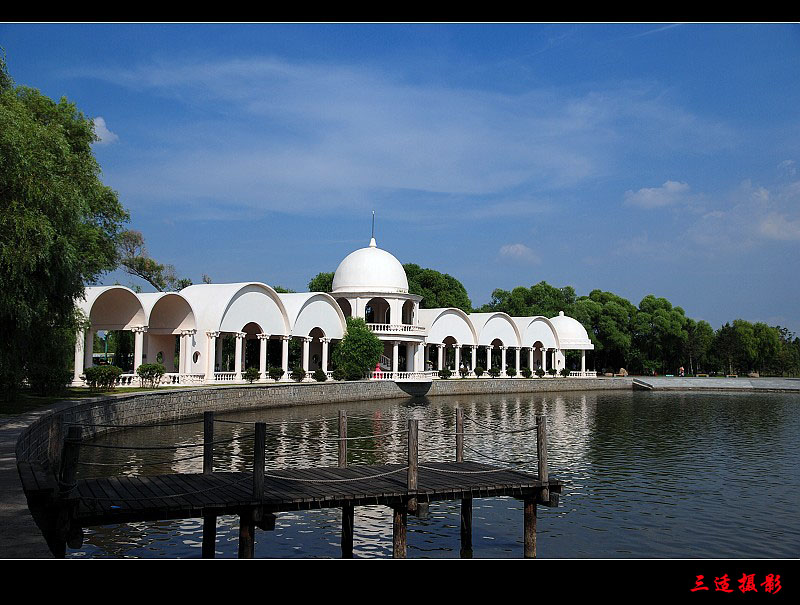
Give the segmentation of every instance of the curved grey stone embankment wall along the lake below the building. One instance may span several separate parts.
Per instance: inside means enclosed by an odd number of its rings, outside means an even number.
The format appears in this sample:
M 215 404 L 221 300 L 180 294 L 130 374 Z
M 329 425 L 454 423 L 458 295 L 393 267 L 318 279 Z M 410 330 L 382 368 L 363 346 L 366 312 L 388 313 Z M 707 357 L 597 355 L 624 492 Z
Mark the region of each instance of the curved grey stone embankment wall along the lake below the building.
M 449 379 L 433 381 L 428 396 L 631 388 L 629 378 Z M 17 441 L 17 460 L 54 468 L 71 423 L 82 425 L 84 438 L 88 439 L 126 426 L 178 421 L 206 411 L 224 413 L 406 397 L 394 382 L 360 381 L 162 389 L 64 401 L 22 432 Z

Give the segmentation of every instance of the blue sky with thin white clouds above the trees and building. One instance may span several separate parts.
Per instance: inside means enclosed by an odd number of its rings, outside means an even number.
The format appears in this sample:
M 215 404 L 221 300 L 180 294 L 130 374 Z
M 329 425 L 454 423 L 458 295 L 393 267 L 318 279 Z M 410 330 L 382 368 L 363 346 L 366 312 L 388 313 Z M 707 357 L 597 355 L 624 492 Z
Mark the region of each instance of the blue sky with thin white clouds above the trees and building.
M 800 26 L 0 24 L 199 282 L 369 241 L 474 305 L 541 280 L 800 333 Z M 106 283 L 135 280 L 122 273 Z

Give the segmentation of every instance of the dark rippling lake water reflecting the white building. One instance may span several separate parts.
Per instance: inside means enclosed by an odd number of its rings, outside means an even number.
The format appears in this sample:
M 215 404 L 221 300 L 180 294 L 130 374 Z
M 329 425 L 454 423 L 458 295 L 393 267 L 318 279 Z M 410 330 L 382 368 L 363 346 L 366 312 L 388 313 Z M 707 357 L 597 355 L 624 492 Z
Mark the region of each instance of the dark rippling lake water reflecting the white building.
M 587 392 L 453 396 L 259 410 L 218 416 L 216 470 L 252 468 L 253 423 L 267 422 L 267 468 L 335 466 L 338 410 L 348 414 L 350 464 L 403 463 L 405 428 L 420 420 L 421 463 L 455 457 L 455 408 L 467 459 L 521 461 L 535 471 L 535 432 L 548 421 L 551 476 L 565 482 L 561 506 L 540 508 L 543 558 L 781 558 L 800 552 L 800 451 L 796 396 L 784 394 Z M 202 421 L 110 434 L 119 446 L 199 444 Z M 201 472 L 202 448 L 83 448 L 81 475 Z M 497 463 L 499 464 L 499 463 Z M 459 556 L 459 503 L 409 518 L 410 557 Z M 338 557 L 340 511 L 282 513 L 256 534 L 258 557 Z M 521 504 L 476 499 L 475 557 L 519 557 Z M 356 557 L 391 556 L 391 512 L 359 507 Z M 238 518 L 218 520 L 217 556 L 235 557 Z M 199 557 L 202 523 L 135 523 L 86 530 L 74 557 Z

